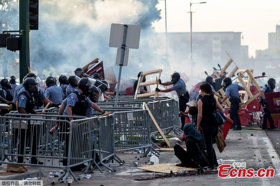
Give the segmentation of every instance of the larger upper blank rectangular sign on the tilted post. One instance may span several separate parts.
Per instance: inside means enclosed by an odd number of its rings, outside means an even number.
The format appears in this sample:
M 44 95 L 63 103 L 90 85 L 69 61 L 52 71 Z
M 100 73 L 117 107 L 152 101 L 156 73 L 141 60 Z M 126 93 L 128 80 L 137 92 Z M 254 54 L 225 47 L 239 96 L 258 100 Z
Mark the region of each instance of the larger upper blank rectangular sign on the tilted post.
M 127 25 L 127 24 L 126 24 Z M 141 25 L 128 25 L 126 35 L 126 48 L 139 48 Z M 111 25 L 109 47 L 120 48 L 122 47 L 124 36 L 124 25 L 115 24 Z

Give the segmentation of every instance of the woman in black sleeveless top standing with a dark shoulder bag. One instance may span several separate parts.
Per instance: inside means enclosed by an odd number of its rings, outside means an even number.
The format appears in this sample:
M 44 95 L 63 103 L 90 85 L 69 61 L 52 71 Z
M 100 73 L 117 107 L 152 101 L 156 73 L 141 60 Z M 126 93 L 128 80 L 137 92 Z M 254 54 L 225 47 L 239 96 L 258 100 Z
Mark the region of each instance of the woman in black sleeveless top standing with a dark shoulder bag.
M 200 133 L 202 128 L 202 136 L 208 159 L 208 167 L 205 170 L 213 170 L 218 166 L 215 149 L 213 148 L 213 140 L 218 134 L 218 126 L 213 116 L 215 106 L 222 113 L 225 112 L 220 103 L 214 98 L 214 94 L 210 94 L 212 93 L 210 84 L 203 83 L 199 88 L 203 98 L 198 101 L 197 131 Z

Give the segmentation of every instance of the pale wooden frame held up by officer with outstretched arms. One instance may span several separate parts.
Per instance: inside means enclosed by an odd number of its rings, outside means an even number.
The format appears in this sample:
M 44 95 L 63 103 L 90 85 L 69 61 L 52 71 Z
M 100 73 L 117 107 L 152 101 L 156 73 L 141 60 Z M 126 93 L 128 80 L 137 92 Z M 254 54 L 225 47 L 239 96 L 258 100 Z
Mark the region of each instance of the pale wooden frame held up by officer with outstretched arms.
M 156 98 L 156 96 L 158 96 L 158 92 L 156 92 L 156 91 L 149 92 L 149 93 L 138 94 L 138 90 L 140 90 L 141 87 L 148 86 L 148 85 L 153 85 L 153 84 L 156 84 L 156 87 L 158 87 L 158 79 L 161 78 L 161 72 L 162 72 L 161 69 L 142 72 L 139 79 L 138 79 L 138 84 L 137 84 L 137 87 L 136 87 L 134 99 L 147 98 L 147 97 L 151 97 L 151 96 L 154 96 L 154 98 Z M 159 74 L 158 77 L 156 77 L 156 80 L 143 82 L 143 77 L 144 76 L 152 75 L 152 74 Z

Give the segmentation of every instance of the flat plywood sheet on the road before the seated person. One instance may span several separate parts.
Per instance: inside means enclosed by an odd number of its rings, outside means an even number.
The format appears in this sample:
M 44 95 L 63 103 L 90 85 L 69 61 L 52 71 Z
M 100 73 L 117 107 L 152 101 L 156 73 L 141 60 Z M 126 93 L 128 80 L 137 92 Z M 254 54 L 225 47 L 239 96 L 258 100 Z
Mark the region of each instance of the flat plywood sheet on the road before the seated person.
M 173 173 L 182 172 L 183 169 L 186 171 L 197 171 L 197 169 L 193 169 L 193 168 L 178 167 L 175 165 L 168 165 L 168 164 L 156 164 L 156 165 L 141 166 L 136 168 L 141 170 L 146 170 L 149 172 L 158 172 L 158 173 L 166 173 L 166 174 L 170 174 L 170 170 L 172 170 Z

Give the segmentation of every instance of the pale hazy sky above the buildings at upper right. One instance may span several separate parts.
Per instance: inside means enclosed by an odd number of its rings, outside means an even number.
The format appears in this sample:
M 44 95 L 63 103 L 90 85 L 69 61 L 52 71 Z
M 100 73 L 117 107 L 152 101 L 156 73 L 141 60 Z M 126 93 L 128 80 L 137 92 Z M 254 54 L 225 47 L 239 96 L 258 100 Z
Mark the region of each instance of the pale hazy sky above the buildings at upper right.
M 242 45 L 249 45 L 249 56 L 255 50 L 268 48 L 268 33 L 280 25 L 280 0 L 205 0 L 192 5 L 193 32 L 242 32 Z M 167 32 L 189 32 L 188 0 L 166 0 Z M 203 2 L 193 0 L 194 2 Z M 162 19 L 153 24 L 156 32 L 165 32 L 164 0 L 160 0 Z

